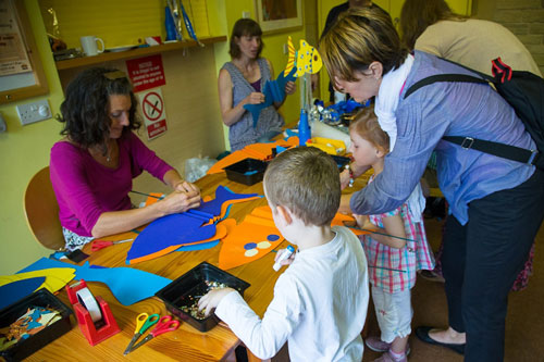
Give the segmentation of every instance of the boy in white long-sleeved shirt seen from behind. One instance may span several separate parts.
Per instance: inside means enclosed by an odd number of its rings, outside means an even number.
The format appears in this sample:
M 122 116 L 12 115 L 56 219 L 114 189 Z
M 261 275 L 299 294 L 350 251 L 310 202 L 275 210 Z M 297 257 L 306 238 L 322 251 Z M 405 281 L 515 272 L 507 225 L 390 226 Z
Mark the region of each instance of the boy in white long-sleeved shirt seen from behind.
M 260 320 L 231 288 L 208 292 L 199 309 L 209 313 L 215 308 L 260 359 L 274 357 L 288 341 L 292 361 L 360 361 L 369 302 L 367 259 L 349 229 L 331 227 L 341 199 L 336 163 L 314 147 L 284 151 L 267 168 L 264 194 L 276 227 L 298 246 L 283 262 L 290 266 L 277 279 L 264 316 Z

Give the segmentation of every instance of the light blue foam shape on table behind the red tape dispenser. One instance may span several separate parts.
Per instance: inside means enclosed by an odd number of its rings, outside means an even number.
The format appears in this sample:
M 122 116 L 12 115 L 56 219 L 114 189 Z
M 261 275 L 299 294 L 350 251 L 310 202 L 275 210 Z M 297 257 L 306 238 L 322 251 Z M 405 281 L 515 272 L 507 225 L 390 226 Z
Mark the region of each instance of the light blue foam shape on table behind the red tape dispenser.
M 41 258 L 18 273 L 39 271 L 51 267 L 75 269 L 75 279 L 100 282 L 106 284 L 118 301 L 123 305 L 132 305 L 144 299 L 153 297 L 157 291 L 172 283 L 171 279 L 132 267 L 95 267 L 89 262 L 83 266 Z

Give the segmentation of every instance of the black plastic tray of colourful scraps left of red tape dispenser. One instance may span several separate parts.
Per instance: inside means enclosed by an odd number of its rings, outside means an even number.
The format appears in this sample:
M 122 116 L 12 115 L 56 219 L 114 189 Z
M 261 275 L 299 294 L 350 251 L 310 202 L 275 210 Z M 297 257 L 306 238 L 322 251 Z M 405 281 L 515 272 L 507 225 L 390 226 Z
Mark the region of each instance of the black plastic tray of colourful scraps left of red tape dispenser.
M 53 309 L 61 313 L 62 319 L 50 324 L 34 336 L 20 340 L 16 345 L 0 352 L 0 357 L 3 357 L 7 361 L 21 361 L 72 329 L 70 322 L 70 314 L 73 313 L 72 310 L 45 288 L 1 310 L 0 328 L 11 325 L 24 315 L 29 307 Z

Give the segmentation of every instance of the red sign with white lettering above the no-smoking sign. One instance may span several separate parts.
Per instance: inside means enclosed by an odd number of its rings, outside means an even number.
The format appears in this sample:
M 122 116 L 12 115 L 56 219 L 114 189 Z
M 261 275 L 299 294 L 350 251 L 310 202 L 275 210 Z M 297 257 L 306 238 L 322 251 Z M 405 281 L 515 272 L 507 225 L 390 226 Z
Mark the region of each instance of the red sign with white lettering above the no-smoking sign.
M 133 83 L 134 92 L 157 88 L 166 84 L 160 54 L 127 60 L 126 70 Z

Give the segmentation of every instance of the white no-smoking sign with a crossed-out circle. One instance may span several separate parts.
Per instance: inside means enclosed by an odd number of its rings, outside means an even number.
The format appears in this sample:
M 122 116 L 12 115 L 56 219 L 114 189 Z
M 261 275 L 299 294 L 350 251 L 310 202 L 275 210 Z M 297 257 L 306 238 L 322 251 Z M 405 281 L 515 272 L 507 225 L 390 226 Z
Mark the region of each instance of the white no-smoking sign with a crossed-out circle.
M 140 91 L 138 97 L 147 138 L 151 140 L 163 135 L 168 127 L 161 88 Z

